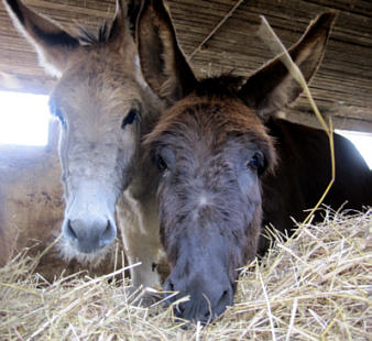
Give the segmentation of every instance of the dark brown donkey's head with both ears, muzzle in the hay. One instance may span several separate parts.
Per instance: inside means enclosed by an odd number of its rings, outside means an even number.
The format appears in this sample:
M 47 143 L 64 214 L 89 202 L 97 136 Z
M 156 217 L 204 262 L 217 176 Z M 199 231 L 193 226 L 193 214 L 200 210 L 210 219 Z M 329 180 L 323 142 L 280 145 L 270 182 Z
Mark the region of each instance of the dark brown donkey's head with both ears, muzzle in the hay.
M 291 48 L 309 80 L 322 58 L 332 13 Z M 254 258 L 261 230 L 261 178 L 276 162 L 264 121 L 300 94 L 281 59 L 242 85 L 197 81 L 162 1 L 145 1 L 138 22 L 141 67 L 168 108 L 146 138 L 162 172 L 161 240 L 172 266 L 165 289 L 189 295 L 177 316 L 208 321 L 233 301 L 238 268 Z

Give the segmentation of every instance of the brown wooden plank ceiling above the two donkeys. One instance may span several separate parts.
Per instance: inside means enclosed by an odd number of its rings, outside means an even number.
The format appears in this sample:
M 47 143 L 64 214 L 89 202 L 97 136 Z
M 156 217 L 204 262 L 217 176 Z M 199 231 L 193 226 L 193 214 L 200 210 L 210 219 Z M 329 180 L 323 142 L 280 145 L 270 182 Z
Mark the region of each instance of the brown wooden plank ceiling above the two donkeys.
M 25 0 L 37 12 L 74 32 L 97 31 L 114 13 L 114 0 Z M 264 15 L 286 47 L 311 19 L 339 12 L 324 62 L 311 82 L 320 112 L 337 129 L 372 132 L 372 3 L 368 0 L 168 0 L 180 45 L 199 77 L 248 76 L 273 57 L 256 34 Z M 48 94 L 54 79 L 13 28 L 0 6 L 0 89 Z M 76 31 L 75 31 L 76 32 Z M 303 96 L 286 110 L 289 120 L 317 125 Z

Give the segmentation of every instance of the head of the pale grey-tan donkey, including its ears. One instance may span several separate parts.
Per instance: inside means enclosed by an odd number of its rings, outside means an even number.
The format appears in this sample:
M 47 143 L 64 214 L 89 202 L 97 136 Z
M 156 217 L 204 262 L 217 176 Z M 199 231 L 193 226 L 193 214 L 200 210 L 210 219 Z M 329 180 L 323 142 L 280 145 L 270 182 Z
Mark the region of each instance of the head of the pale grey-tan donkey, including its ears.
M 116 238 L 114 206 L 150 121 L 131 32 L 139 4 L 129 2 L 117 1 L 111 28 L 97 37 L 74 37 L 22 1 L 4 1 L 42 65 L 58 77 L 50 105 L 61 122 L 66 256 L 96 254 Z

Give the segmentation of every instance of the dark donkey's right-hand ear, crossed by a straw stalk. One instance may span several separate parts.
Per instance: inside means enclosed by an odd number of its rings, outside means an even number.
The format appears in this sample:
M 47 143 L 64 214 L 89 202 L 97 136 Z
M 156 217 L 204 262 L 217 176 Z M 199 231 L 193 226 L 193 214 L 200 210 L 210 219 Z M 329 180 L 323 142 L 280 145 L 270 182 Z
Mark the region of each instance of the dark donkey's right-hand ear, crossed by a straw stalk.
M 325 54 L 330 30 L 336 20 L 335 12 L 322 13 L 310 23 L 302 38 L 288 53 L 309 81 L 318 69 Z M 276 57 L 251 76 L 239 95 L 245 103 L 267 119 L 292 103 L 303 91 L 287 67 Z

